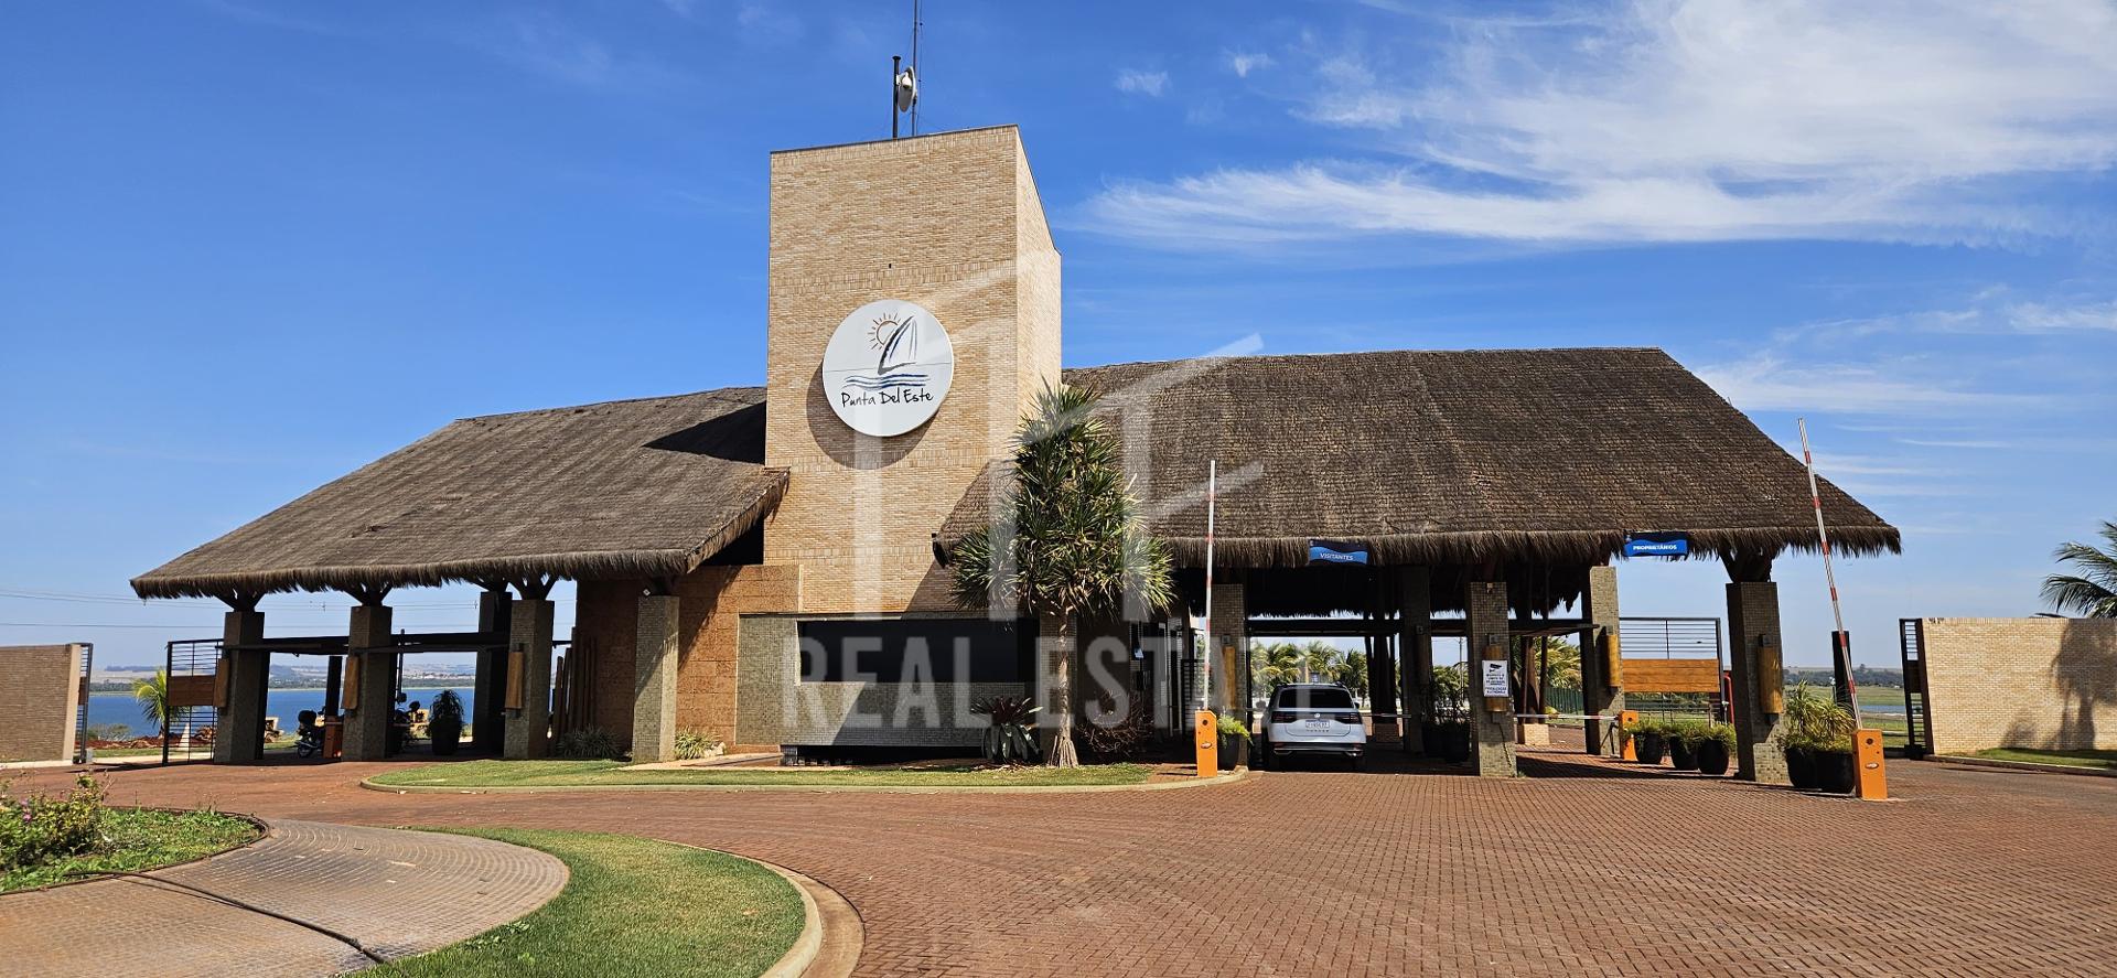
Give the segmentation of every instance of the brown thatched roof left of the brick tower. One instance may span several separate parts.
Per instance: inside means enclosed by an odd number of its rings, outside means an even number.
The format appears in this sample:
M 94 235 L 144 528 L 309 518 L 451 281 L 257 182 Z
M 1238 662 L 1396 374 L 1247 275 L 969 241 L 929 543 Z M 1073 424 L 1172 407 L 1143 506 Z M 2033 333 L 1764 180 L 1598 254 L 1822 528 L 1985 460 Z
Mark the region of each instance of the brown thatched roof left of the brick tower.
M 785 472 L 764 390 L 455 421 L 140 578 L 140 597 L 449 580 L 680 576 Z

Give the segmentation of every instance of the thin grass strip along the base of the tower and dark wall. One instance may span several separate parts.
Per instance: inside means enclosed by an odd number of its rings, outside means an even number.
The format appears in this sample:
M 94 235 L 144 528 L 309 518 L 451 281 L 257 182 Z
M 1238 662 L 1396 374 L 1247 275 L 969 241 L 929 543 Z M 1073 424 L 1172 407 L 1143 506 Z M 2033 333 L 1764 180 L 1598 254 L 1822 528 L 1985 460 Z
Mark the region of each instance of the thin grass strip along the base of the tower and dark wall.
M 1078 768 L 682 768 L 620 771 L 622 760 L 466 760 L 390 771 L 379 785 L 402 787 L 584 787 L 584 785 L 876 785 L 876 787 L 1035 787 L 1035 785 L 1137 785 L 1152 773 L 1141 764 L 1092 764 Z

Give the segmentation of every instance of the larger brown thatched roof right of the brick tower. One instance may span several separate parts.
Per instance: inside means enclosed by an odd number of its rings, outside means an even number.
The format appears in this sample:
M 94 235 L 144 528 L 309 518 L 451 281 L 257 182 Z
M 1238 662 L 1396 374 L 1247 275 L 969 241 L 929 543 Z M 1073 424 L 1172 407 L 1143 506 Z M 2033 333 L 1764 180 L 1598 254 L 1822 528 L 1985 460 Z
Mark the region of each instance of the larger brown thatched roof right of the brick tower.
M 1660 349 L 1255 356 L 1092 366 L 1147 529 L 1205 563 L 1298 567 L 1310 538 L 1376 563 L 1596 563 L 1628 531 L 1681 529 L 1696 557 L 1816 548 L 1799 461 Z M 951 517 L 984 519 L 989 491 Z M 1823 483 L 1831 546 L 1895 553 L 1890 527 Z

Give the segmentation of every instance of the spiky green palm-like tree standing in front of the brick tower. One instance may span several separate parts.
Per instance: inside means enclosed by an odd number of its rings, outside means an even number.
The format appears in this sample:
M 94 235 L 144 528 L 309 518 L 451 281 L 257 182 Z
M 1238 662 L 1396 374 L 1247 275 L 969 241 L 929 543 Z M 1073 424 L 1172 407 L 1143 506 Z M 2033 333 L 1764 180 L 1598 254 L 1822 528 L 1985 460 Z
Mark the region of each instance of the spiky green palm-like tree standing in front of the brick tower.
M 1080 616 L 1175 601 L 1169 548 L 1139 525 L 1118 436 L 1094 417 L 1092 390 L 1037 394 L 1014 432 L 1014 481 L 999 512 L 1012 525 L 965 533 L 948 555 L 955 599 L 993 612 L 1027 608 L 1054 637 L 1046 760 L 1078 766 L 1073 656 Z

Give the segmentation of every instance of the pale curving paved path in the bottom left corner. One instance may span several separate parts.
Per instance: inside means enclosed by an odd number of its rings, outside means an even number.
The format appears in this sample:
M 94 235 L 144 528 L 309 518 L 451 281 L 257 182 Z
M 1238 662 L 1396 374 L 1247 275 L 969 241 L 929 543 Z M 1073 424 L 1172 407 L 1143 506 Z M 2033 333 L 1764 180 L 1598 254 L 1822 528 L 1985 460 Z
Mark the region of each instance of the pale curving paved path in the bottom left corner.
M 0 898 L 4 972 L 341 974 L 370 959 L 345 940 L 205 893 L 309 921 L 392 959 L 544 906 L 565 885 L 565 864 L 487 838 L 273 819 L 248 849 L 150 876 Z

